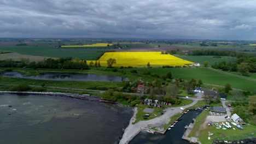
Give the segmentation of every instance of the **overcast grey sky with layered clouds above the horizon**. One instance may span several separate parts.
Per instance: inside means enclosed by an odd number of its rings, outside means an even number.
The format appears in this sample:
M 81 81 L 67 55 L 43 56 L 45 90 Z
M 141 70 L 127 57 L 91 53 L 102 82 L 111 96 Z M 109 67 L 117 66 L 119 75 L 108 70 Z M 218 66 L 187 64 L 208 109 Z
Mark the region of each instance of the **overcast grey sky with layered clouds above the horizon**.
M 0 0 L 0 37 L 256 40 L 256 1 Z

